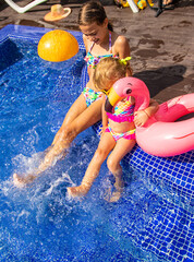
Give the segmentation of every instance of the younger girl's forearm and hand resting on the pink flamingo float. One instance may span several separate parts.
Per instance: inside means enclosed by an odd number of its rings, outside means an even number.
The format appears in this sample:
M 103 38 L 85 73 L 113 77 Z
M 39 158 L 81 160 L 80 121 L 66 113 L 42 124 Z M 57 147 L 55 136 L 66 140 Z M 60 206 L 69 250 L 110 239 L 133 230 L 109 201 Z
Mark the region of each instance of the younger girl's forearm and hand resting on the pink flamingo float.
M 147 120 L 157 112 L 158 108 L 159 108 L 158 103 L 154 99 L 150 99 L 149 106 L 146 109 L 136 111 L 134 114 L 135 126 L 137 127 L 144 126 L 147 122 Z

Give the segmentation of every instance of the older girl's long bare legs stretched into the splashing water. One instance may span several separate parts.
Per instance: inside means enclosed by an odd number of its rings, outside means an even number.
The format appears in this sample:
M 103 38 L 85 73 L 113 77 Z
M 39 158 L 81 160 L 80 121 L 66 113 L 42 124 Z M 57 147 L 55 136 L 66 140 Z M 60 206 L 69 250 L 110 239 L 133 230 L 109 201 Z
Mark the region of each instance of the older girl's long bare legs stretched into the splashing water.
M 26 183 L 31 183 L 43 171 L 49 168 L 57 157 L 60 155 L 64 156 L 65 151 L 70 147 L 75 136 L 101 119 L 101 105 L 102 99 L 98 99 L 89 107 L 86 107 L 85 98 L 83 94 L 81 94 L 66 114 L 62 127 L 56 134 L 52 146 L 46 153 L 39 167 L 34 174 L 26 177 L 20 177 L 17 174 L 14 174 L 14 184 L 16 187 L 23 187 Z

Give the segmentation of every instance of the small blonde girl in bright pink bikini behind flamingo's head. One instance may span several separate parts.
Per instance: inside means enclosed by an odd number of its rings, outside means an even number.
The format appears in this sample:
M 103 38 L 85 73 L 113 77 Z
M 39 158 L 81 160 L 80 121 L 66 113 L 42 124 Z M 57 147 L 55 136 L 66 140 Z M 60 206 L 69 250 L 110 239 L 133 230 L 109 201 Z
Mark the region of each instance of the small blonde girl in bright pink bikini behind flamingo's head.
M 106 95 L 111 86 L 121 78 L 128 76 L 130 71 L 129 59 L 105 58 L 98 64 L 94 73 L 96 87 Z M 107 166 L 116 178 L 114 192 L 109 201 L 118 201 L 123 191 L 121 159 L 135 145 L 135 124 L 144 126 L 150 116 L 158 109 L 158 104 L 151 100 L 145 110 L 135 112 L 134 98 L 129 97 L 119 102 L 114 107 L 114 114 L 105 112 L 105 99 L 102 105 L 102 134 L 98 148 L 86 170 L 80 187 L 68 188 L 71 196 L 85 195 L 94 180 L 97 178 L 101 164 L 107 158 Z

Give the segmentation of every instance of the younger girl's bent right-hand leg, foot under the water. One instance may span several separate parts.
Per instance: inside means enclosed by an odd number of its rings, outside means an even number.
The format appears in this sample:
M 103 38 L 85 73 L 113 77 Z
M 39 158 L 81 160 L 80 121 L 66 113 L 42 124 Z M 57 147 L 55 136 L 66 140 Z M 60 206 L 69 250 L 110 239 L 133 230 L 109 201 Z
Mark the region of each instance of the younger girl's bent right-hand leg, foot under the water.
M 120 165 L 120 162 L 134 147 L 134 145 L 135 140 L 120 139 L 107 160 L 108 168 L 116 178 L 116 191 L 112 193 L 109 202 L 116 202 L 121 198 L 124 181 L 122 179 L 122 167 Z

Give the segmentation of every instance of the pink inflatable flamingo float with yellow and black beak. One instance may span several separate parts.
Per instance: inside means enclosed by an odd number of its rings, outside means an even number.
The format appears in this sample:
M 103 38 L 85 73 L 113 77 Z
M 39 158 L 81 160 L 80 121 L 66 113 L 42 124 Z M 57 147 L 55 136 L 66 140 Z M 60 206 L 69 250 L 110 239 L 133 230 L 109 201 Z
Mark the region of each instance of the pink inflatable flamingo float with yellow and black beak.
M 111 112 L 113 106 L 126 96 L 135 98 L 135 111 L 149 105 L 149 91 L 145 83 L 129 76 L 113 84 L 106 100 L 106 111 Z M 193 111 L 194 93 L 161 104 L 144 127 L 136 127 L 137 144 L 156 156 L 173 156 L 194 150 L 194 118 L 174 122 Z

